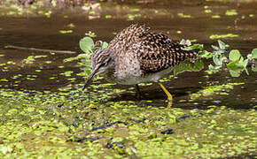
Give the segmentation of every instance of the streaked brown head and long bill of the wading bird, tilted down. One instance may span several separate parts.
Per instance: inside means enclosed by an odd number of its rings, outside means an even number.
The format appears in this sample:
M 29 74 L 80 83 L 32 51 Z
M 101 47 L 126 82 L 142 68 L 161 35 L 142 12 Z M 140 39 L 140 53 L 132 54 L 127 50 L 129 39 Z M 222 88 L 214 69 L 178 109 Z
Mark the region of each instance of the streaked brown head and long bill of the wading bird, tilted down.
M 97 49 L 97 51 L 91 57 L 91 64 L 92 72 L 82 89 L 85 89 L 90 85 L 90 81 L 95 75 L 107 72 L 109 69 L 113 69 L 113 50 Z

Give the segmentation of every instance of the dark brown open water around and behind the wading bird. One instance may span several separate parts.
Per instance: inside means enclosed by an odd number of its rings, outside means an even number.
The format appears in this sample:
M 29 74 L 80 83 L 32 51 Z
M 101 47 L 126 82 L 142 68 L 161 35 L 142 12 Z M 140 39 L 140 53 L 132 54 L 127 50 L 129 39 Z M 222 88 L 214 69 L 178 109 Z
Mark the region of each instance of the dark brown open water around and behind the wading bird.
M 218 1 L 153 1 L 149 4 L 110 4 L 103 3 L 90 15 L 81 8 L 68 8 L 53 10 L 50 18 L 42 15 L 28 14 L 27 16 L 8 16 L 7 11 L 0 8 L 0 87 L 28 90 L 58 91 L 59 87 L 78 85 L 84 82 L 84 77 L 77 76 L 82 72 L 76 62 L 64 63 L 68 57 L 76 57 L 82 51 L 79 41 L 85 33 L 95 33 L 94 40 L 110 42 L 114 34 L 133 23 L 146 24 L 154 32 L 162 32 L 173 39 L 195 39 L 211 49 L 216 39 L 210 39 L 212 34 L 238 34 L 238 37 L 225 38 L 222 41 L 230 44 L 230 49 L 239 49 L 244 56 L 257 48 L 257 1 L 222 3 Z M 207 13 L 208 11 L 211 11 Z M 237 15 L 225 15 L 226 11 L 236 10 Z M 179 15 L 190 15 L 183 18 Z M 178 15 L 179 14 L 179 15 Z M 106 15 L 112 15 L 108 19 Z M 131 16 L 132 15 L 132 16 Z M 219 15 L 219 19 L 212 16 Z M 130 16 L 130 18 L 129 18 Z M 133 17 L 134 16 L 134 17 Z M 71 25 L 72 24 L 72 25 Z M 74 27 L 71 27 L 74 26 Z M 60 34 L 59 30 L 73 30 L 71 34 Z M 181 32 L 181 34 L 178 34 Z M 55 54 L 4 49 L 6 45 L 21 47 L 34 47 L 39 49 L 73 50 L 77 54 Z M 28 56 L 48 55 L 37 58 L 33 64 L 24 64 Z M 10 64 L 10 61 L 15 64 Z M 46 63 L 51 61 L 51 64 Z M 9 63 L 8 63 L 9 62 Z M 211 61 L 205 61 L 205 70 Z M 64 65 L 63 68 L 58 66 Z M 4 67 L 8 68 L 4 68 Z M 7 70 L 7 71 L 6 71 Z M 37 72 L 35 70 L 41 70 Z M 205 70 L 201 72 L 184 72 L 177 79 L 164 82 L 169 91 L 175 95 L 175 107 L 205 108 L 206 105 L 228 105 L 233 108 L 249 109 L 256 106 L 256 72 L 245 72 L 239 78 L 232 78 L 229 72 L 222 71 L 208 75 Z M 71 77 L 60 73 L 73 71 Z M 19 78 L 16 78 L 19 75 Z M 50 79 L 54 77 L 55 79 Z M 75 78 L 71 80 L 72 78 Z M 32 80 L 31 80 L 32 79 Z M 105 79 L 100 80 L 105 83 Z M 191 102 L 183 102 L 191 93 L 209 85 L 222 85 L 227 83 L 241 83 L 233 89 L 224 90 L 229 95 L 213 95 L 210 99 L 199 99 L 192 106 Z M 99 81 L 97 81 L 99 83 Z M 130 90 L 133 86 L 115 85 L 114 88 Z M 110 97 L 110 101 L 137 101 L 144 105 L 144 101 L 154 101 L 154 105 L 163 105 L 166 99 L 157 84 L 141 87 L 143 102 L 136 100 L 135 90 L 125 91 Z M 104 89 L 105 90 L 105 89 Z M 90 93 L 90 89 L 88 90 Z M 154 92 L 154 94 L 153 94 Z M 99 94 L 100 95 L 100 94 Z

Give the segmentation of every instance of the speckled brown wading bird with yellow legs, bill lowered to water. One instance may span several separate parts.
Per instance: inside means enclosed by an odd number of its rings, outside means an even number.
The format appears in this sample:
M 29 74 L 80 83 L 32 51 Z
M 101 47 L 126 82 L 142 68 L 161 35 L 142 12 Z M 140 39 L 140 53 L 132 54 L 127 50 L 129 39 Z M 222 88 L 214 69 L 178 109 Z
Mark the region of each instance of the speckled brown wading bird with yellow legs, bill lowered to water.
M 107 80 L 121 85 L 136 85 L 136 88 L 139 83 L 158 82 L 171 106 L 172 95 L 159 80 L 172 72 L 175 64 L 198 57 L 198 50 L 184 50 L 185 47 L 165 34 L 152 33 L 148 27 L 131 25 L 117 34 L 108 48 L 93 54 L 92 72 L 83 89 L 97 74 L 104 74 Z

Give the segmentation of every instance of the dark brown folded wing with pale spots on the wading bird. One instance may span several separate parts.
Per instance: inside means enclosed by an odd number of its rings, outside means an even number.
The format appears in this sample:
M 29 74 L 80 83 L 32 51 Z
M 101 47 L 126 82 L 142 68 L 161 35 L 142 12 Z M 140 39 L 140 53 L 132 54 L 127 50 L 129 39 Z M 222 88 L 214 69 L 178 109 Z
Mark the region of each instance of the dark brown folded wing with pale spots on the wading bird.
M 171 41 L 165 34 L 144 32 L 131 49 L 136 52 L 144 73 L 160 72 L 185 59 L 196 58 L 198 50 L 184 50 L 185 45 Z

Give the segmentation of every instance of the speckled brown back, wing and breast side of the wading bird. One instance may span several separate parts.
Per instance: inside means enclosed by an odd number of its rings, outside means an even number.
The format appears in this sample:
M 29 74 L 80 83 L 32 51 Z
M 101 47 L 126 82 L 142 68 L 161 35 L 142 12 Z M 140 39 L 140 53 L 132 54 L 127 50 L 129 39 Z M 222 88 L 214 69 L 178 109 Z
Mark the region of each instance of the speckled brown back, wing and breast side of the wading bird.
M 198 50 L 184 50 L 185 47 L 165 34 L 152 33 L 150 28 L 144 26 L 131 25 L 117 34 L 108 48 L 114 50 L 119 63 L 116 64 L 116 73 L 122 70 L 120 77 L 126 78 L 161 72 L 185 59 L 198 57 Z

